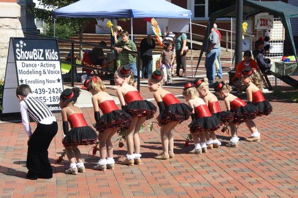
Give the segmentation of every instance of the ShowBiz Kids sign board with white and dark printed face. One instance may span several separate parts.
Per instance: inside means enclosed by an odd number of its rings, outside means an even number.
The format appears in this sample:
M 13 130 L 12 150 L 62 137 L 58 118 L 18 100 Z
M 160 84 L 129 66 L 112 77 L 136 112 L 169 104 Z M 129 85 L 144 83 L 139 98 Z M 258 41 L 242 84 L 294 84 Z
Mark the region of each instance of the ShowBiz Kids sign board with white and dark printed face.
M 61 110 L 63 91 L 57 40 L 13 39 L 18 85 L 28 84 L 50 110 Z

